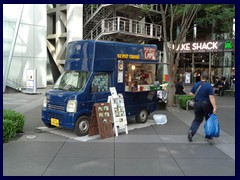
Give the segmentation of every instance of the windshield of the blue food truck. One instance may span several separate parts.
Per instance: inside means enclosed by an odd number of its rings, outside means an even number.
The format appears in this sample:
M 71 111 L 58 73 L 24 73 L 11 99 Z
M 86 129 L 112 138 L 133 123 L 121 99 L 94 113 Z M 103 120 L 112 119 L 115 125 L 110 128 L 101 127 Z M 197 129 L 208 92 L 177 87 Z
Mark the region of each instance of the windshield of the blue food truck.
M 89 72 L 65 71 L 58 78 L 53 89 L 80 91 L 84 88 L 89 76 Z

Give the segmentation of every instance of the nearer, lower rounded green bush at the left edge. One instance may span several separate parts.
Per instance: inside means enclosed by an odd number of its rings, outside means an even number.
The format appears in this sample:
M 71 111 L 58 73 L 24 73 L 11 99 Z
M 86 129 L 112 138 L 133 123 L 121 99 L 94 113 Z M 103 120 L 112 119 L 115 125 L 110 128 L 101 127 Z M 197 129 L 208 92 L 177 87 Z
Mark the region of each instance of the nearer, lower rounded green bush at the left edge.
M 3 119 L 3 142 L 8 142 L 11 138 L 16 136 L 16 126 L 9 119 Z

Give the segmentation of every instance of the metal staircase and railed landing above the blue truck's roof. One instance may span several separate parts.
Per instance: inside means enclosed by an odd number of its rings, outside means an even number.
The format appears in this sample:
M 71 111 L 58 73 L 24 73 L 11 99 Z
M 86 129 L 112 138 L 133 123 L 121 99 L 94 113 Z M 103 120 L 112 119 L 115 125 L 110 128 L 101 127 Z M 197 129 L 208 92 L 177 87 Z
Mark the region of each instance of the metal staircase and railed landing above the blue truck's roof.
M 141 4 L 95 4 L 88 5 L 84 10 L 84 38 L 98 40 L 118 40 L 135 42 L 161 38 L 161 25 L 143 21 L 144 10 Z M 158 6 L 152 5 L 149 13 L 158 13 Z M 138 19 L 114 16 L 123 14 Z M 131 13 L 131 15 L 127 15 Z M 146 12 L 145 12 L 146 13 Z M 112 16 L 112 17 L 110 17 Z M 140 19 L 140 20 L 139 20 Z

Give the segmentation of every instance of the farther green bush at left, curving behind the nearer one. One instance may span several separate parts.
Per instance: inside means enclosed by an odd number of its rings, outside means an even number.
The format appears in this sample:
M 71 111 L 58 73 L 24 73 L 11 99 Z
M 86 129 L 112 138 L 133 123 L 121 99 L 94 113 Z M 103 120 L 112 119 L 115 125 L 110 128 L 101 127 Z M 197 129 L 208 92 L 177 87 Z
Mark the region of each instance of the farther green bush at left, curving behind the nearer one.
M 25 117 L 23 114 L 13 111 L 13 110 L 3 110 L 3 119 L 8 119 L 12 121 L 16 127 L 16 132 L 22 132 Z

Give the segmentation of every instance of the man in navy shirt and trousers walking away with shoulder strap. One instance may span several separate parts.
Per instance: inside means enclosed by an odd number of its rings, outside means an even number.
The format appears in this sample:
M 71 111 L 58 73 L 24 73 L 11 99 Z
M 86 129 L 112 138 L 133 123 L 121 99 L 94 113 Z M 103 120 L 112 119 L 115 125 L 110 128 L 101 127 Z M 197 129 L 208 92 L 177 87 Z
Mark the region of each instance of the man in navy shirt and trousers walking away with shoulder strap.
M 192 138 L 196 134 L 200 124 L 203 121 L 203 118 L 205 118 L 205 120 L 207 121 L 210 114 L 216 114 L 217 112 L 217 105 L 213 87 L 210 83 L 207 82 L 207 80 L 208 74 L 206 71 L 204 71 L 201 74 L 201 81 L 195 83 L 190 91 L 190 94 L 195 96 L 195 117 L 188 131 L 188 140 L 190 142 L 192 142 Z M 205 136 L 205 140 L 212 140 L 212 137 Z

